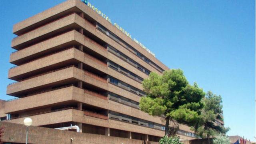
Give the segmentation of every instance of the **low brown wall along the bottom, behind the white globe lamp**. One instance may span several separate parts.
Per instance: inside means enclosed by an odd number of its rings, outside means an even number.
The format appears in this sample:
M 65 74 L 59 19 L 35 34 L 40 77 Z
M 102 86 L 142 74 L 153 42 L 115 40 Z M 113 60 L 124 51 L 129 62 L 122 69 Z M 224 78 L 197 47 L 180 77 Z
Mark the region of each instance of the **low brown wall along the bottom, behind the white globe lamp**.
M 26 126 L 10 122 L 0 122 L 4 127 L 3 142 L 25 143 Z M 74 141 L 71 143 L 70 138 Z M 128 138 L 118 138 L 98 134 L 55 130 L 38 126 L 28 128 L 28 143 L 30 144 L 158 144 L 158 142 L 146 142 Z

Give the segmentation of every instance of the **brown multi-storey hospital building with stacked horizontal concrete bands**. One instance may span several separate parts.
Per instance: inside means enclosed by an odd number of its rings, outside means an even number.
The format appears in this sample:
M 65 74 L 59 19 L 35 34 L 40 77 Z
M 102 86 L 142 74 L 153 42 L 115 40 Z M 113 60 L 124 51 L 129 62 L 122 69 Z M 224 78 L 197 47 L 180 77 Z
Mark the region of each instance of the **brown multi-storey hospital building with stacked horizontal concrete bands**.
M 78 125 L 86 138 L 132 139 L 126 143 L 164 136 L 164 120 L 140 111 L 138 102 L 149 72 L 169 68 L 83 2 L 68 0 L 36 14 L 15 24 L 13 33 L 17 51 L 10 63 L 17 66 L 8 78 L 16 82 L 6 93 L 19 99 L 0 101 L 3 120 L 8 114 L 7 122 L 16 124 L 29 116 L 33 126 Z M 182 140 L 195 139 L 188 126 L 179 127 Z

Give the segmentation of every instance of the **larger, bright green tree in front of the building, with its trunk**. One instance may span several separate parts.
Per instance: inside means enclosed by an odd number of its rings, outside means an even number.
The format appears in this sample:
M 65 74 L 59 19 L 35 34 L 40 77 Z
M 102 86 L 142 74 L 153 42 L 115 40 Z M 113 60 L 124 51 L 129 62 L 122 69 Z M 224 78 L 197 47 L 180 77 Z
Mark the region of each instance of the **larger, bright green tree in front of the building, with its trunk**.
M 166 120 L 165 134 L 169 134 L 169 121 L 194 125 L 198 122 L 204 91 L 196 83 L 190 85 L 180 69 L 158 75 L 151 72 L 142 82 L 146 97 L 140 100 L 140 109 Z M 175 123 L 175 122 L 174 122 Z

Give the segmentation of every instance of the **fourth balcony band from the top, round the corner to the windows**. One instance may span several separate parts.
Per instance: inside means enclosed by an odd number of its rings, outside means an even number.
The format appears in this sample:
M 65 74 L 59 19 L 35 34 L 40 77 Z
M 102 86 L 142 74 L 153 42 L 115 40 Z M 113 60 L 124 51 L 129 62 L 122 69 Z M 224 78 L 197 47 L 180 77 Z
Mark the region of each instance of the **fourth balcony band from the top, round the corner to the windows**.
M 107 73 L 108 68 L 106 63 L 74 47 L 70 47 L 10 69 L 8 78 L 18 81 L 22 81 L 22 79 L 27 80 L 33 75 L 36 76 L 42 72 L 72 64 L 77 65 L 79 62 L 84 63 L 86 65 L 85 67 L 90 66 Z

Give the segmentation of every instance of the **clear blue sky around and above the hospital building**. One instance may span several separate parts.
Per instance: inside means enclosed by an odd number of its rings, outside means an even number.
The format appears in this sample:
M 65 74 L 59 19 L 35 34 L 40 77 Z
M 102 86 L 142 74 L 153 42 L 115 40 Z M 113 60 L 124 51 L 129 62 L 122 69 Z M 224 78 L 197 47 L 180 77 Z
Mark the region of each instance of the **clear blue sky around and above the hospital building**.
M 0 99 L 6 96 L 12 26 L 64 0 L 0 0 Z M 255 136 L 254 0 L 89 0 L 190 83 L 223 98 L 228 135 Z

